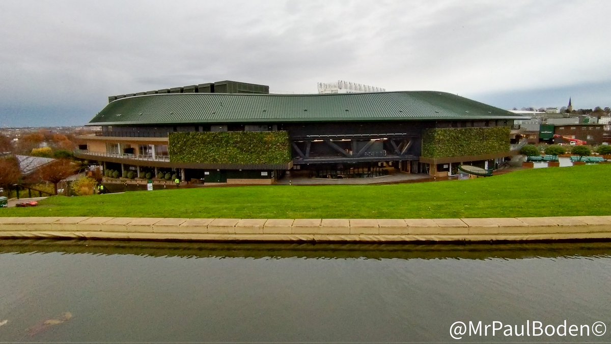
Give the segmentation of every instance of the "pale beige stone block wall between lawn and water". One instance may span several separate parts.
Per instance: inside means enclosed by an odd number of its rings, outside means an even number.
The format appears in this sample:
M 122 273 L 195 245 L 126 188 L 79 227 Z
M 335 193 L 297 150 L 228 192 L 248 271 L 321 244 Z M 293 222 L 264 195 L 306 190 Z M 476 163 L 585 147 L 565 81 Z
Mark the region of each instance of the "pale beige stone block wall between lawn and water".
M 249 242 L 611 239 L 611 216 L 461 219 L 0 217 L 0 238 Z

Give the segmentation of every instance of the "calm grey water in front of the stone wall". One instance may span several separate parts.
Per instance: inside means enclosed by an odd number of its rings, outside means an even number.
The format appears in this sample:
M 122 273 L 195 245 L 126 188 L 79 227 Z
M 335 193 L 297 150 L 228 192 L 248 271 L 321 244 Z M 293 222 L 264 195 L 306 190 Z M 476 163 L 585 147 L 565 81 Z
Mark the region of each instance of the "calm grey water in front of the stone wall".
M 450 325 L 566 319 L 611 331 L 610 254 L 611 243 L 1 240 L 0 342 L 609 342 L 459 341 Z

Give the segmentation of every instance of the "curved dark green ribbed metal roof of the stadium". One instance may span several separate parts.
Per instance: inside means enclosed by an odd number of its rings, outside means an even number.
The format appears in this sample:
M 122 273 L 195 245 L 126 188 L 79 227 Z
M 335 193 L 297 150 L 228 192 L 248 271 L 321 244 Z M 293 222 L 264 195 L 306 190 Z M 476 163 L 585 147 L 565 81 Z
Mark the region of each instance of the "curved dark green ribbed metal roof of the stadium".
M 332 95 L 163 93 L 112 101 L 89 125 L 506 118 L 523 116 L 437 91 Z

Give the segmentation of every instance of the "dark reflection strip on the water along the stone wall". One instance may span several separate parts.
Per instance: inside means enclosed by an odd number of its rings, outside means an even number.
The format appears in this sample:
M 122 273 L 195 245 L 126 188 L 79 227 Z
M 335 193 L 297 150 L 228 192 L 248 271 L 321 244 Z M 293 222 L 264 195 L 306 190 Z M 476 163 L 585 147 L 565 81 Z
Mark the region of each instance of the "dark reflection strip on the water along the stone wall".
M 611 242 L 389 245 L 329 243 L 181 243 L 119 240 L 0 240 L 0 253 L 131 254 L 150 257 L 524 259 L 604 257 Z

